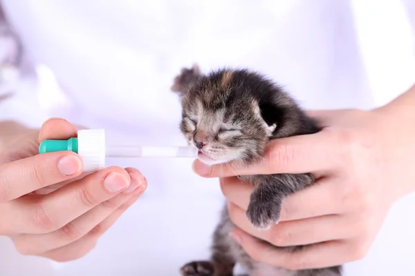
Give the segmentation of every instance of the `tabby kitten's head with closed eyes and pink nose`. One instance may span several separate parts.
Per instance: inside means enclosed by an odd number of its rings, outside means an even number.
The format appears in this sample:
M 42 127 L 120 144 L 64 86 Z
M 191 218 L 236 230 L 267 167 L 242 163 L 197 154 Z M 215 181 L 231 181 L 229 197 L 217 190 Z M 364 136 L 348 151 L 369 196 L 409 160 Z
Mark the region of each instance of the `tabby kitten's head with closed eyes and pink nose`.
M 183 95 L 180 128 L 199 149 L 198 159 L 209 165 L 250 164 L 263 155 L 282 113 L 258 97 L 261 89 L 269 90 L 264 95 L 278 92 L 255 73 L 220 70 L 202 77 Z

